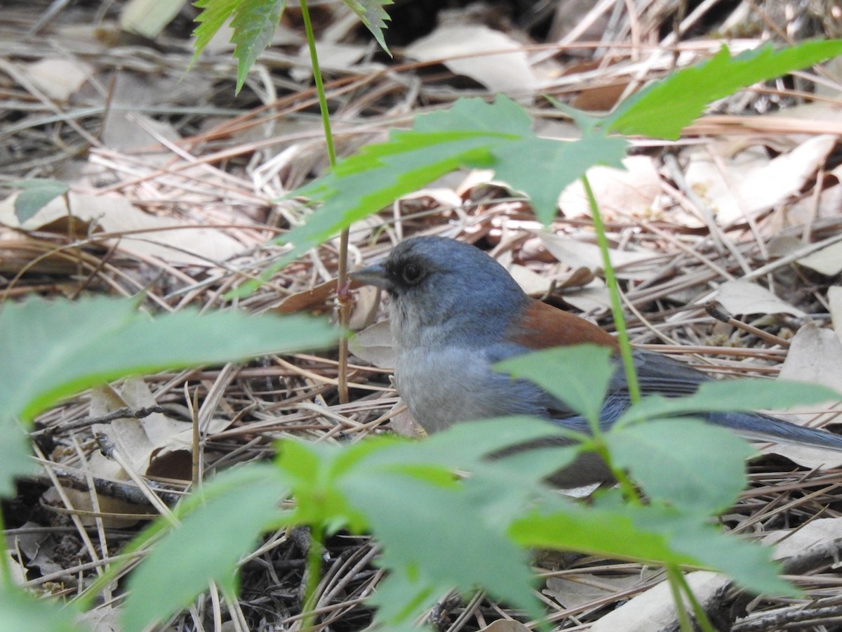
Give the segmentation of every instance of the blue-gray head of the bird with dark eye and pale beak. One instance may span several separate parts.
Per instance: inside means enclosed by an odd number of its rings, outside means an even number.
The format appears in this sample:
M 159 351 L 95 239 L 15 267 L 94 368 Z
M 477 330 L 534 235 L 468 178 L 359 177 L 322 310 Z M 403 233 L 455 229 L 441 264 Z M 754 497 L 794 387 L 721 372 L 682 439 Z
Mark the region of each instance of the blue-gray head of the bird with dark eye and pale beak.
M 352 278 L 389 292 L 398 345 L 418 344 L 422 336 L 466 345 L 498 339 L 528 301 L 488 254 L 444 237 L 409 238 Z

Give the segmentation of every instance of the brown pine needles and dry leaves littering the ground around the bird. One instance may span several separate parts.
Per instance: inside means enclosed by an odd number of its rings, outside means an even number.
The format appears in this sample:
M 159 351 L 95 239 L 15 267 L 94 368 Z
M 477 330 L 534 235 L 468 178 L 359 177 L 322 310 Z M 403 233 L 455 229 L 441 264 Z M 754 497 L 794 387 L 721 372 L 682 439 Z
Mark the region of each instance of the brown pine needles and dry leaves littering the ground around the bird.
M 774 3 L 737 9 L 708 3 L 677 23 L 678 35 L 669 3 L 642 3 L 632 16 L 626 3 L 617 3 L 613 13 L 601 5 L 562 10 L 562 3 L 559 9 L 546 3 L 534 12 L 501 13 L 475 3 L 442 13 L 441 24 L 427 27 L 395 8 L 386 30 L 387 41 L 397 38 L 391 45 L 395 61 L 349 26 L 343 5 L 327 5 L 319 9 L 317 35 L 331 46 L 325 72 L 338 151 L 348 155 L 381 141 L 388 128 L 407 126 L 412 115 L 486 94 L 501 81 L 515 99 L 533 104 L 541 136 L 570 137 L 557 110 L 538 94 L 605 109 L 674 63 L 710 56 L 718 45 L 708 35 L 740 36 L 747 48 L 776 40 L 775 24 L 796 40 L 839 36 L 838 18 L 828 17 L 834 15 L 830 3 L 823 9 L 803 4 L 804 19 L 793 25 L 781 22 Z M 724 22 L 711 5 L 728 14 Z M 282 249 L 269 240 L 305 217 L 306 209 L 281 196 L 326 166 L 300 54 L 300 14 L 286 9 L 274 46 L 234 99 L 236 62 L 226 45 L 210 46 L 179 83 L 192 55 L 184 16 L 154 40 L 138 40 L 117 28 L 119 8 L 66 8 L 60 20 L 45 23 L 38 10 L 4 8 L 6 24 L 0 26 L 0 72 L 9 91 L 0 110 L 0 184 L 50 178 L 67 181 L 72 190 L 25 222 L 14 215 L 13 189 L 5 191 L 0 267 L 7 299 L 28 292 L 145 292 L 147 304 L 158 310 L 223 307 L 226 292 L 280 257 Z M 424 28 L 430 34 L 425 38 L 419 36 Z M 29 29 L 42 35 L 26 35 Z M 466 32 L 482 34 L 477 41 L 483 46 L 451 50 L 452 40 Z M 550 42 L 557 46 L 529 46 Z M 402 43 L 409 45 L 405 52 Z M 488 74 L 489 59 L 496 58 L 471 56 L 491 46 L 510 51 L 498 56 L 500 63 L 506 57 L 502 73 Z M 424 63 L 413 63 L 413 56 Z M 408 63 L 398 66 L 402 61 Z M 685 356 L 711 372 L 781 373 L 839 388 L 842 99 L 833 68 L 799 72 L 792 84 L 756 86 L 723 99 L 676 142 L 634 142 L 626 172 L 594 169 L 616 262 L 624 264 L 618 272 L 637 344 Z M 822 100 L 803 97 L 813 84 Z M 572 306 L 611 329 L 589 212 L 576 185 L 565 190 L 560 206 L 552 233 L 541 233 L 528 202 L 493 175 L 450 174 L 386 208 L 379 222 L 355 227 L 351 256 L 354 265 L 376 260 L 398 238 L 419 233 L 462 238 L 504 260 L 533 296 Z M 779 251 L 773 246 L 781 240 L 788 245 Z M 239 306 L 329 313 L 336 269 L 336 247 L 328 242 L 237 299 Z M 711 319 L 704 309 L 711 298 L 736 322 Z M 140 399 L 124 402 L 129 408 L 153 403 L 165 410 L 152 419 L 104 420 L 116 404 L 105 405 L 109 398 L 98 391 L 41 415 L 33 439 L 43 474 L 24 481 L 31 490 L 22 497 L 29 501 L 13 504 L 7 532 L 19 543 L 15 568 L 24 570 L 29 586 L 55 590 L 60 582 L 75 590 L 87 584 L 90 563 L 104 564 L 125 542 L 125 528 L 138 515 L 154 513 L 142 485 L 173 495 L 184 490 L 184 464 L 157 474 L 150 466 L 168 452 L 189 455 L 192 448 L 179 437 L 189 427 L 195 390 L 200 418 L 210 424 L 202 439 L 207 471 L 267 458 L 279 437 L 337 442 L 390 429 L 417 432 L 388 379 L 387 329 L 371 326 L 376 314 L 382 320 L 381 302 L 368 292 L 357 310 L 354 322 L 369 328 L 352 345 L 349 404 L 337 403 L 335 356 L 299 354 L 114 385 L 139 389 Z M 742 324 L 788 341 L 788 356 L 786 345 Z M 832 427 L 835 408 L 831 403 L 798 416 Z M 155 430 L 137 435 L 147 426 Z M 122 466 L 99 452 L 95 429 L 120 437 L 139 479 L 120 474 Z M 787 617 L 803 629 L 818 629 L 828 608 L 838 608 L 832 543 L 839 539 L 842 469 L 827 453 L 807 452 L 812 454 L 765 448 L 766 456 L 750 466 L 752 485 L 722 520 L 737 533 L 781 541 L 787 571 L 805 593 L 799 603 L 816 608 L 816 622 L 810 624 L 809 610 L 793 614 L 791 600 L 745 603 L 721 590 L 719 578 L 690 576 L 718 586 L 709 593 L 711 606 L 733 608 L 733 629 L 766 629 L 765 622 Z M 797 544 L 799 535 L 809 542 Z M 317 595 L 322 624 L 365 628 L 370 612 L 360 597 L 381 577 L 370 566 L 375 554 L 365 538 L 328 543 L 326 581 Z M 243 566 L 237 608 L 251 629 L 295 624 L 302 560 L 294 538 L 276 534 L 259 561 Z M 537 565 L 546 580 L 547 611 L 559 629 L 620 629 L 610 623 L 611 611 L 615 620 L 631 621 L 627 613 L 645 616 L 650 608 L 666 609 L 658 614 L 660 625 L 673 621 L 669 595 L 651 592 L 663 591 L 657 570 L 593 557 L 550 556 Z M 554 590 L 563 590 L 561 578 L 599 590 L 554 597 Z M 638 601 L 643 594 L 649 605 Z M 511 621 L 515 614 L 478 595 L 436 620 L 440 629 L 501 629 L 506 621 L 511 629 L 533 629 Z M 191 625 L 192 616 L 184 613 L 180 624 Z

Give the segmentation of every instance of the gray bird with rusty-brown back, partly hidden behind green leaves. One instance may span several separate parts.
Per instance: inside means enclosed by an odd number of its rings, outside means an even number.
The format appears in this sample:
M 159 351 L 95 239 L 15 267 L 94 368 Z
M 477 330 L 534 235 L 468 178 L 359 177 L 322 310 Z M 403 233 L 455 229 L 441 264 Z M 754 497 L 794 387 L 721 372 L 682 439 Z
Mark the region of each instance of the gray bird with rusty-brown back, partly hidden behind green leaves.
M 385 260 L 351 273 L 362 285 L 385 290 L 395 340 L 397 391 L 424 431 L 504 415 L 532 415 L 589 432 L 580 415 L 535 383 L 512 379 L 497 362 L 554 346 L 608 347 L 616 362 L 600 426 L 607 429 L 631 405 L 615 336 L 573 313 L 528 296 L 497 260 L 472 244 L 416 236 Z M 642 394 L 695 393 L 712 378 L 657 351 L 634 349 Z M 700 415 L 744 437 L 842 451 L 842 437 L 752 412 Z M 584 456 L 584 455 L 583 455 Z M 607 482 L 610 469 L 594 454 L 559 472 L 560 486 Z

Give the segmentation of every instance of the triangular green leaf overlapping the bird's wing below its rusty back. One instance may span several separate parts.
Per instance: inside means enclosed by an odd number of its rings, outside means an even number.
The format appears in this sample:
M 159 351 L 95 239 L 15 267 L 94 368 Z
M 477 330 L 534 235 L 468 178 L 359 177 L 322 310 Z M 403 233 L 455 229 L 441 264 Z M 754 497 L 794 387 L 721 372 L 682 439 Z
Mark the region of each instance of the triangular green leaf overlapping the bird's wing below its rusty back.
M 615 372 L 610 356 L 611 350 L 604 346 L 556 347 L 498 362 L 495 369 L 538 384 L 592 424 L 599 424 Z

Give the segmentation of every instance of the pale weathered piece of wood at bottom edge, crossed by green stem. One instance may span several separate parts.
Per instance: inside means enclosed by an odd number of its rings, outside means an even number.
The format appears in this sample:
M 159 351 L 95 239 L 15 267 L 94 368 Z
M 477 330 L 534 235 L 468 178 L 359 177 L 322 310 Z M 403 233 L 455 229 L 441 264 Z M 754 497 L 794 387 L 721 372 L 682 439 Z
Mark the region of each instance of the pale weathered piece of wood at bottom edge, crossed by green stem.
M 685 579 L 702 608 L 731 582 L 724 575 L 706 570 L 692 572 Z M 690 608 L 690 603 L 686 603 L 686 608 Z M 592 632 L 661 632 L 676 625 L 672 592 L 669 584 L 662 581 L 601 617 L 590 629 Z

